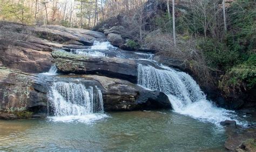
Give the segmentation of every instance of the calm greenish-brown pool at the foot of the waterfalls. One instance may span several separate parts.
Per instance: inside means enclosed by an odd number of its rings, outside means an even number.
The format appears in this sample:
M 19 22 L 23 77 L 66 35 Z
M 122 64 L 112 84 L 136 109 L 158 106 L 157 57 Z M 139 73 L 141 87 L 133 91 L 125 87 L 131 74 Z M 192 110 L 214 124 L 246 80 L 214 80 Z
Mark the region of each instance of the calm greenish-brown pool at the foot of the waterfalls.
M 0 150 L 225 151 L 223 128 L 172 111 L 107 113 L 92 124 L 0 121 Z

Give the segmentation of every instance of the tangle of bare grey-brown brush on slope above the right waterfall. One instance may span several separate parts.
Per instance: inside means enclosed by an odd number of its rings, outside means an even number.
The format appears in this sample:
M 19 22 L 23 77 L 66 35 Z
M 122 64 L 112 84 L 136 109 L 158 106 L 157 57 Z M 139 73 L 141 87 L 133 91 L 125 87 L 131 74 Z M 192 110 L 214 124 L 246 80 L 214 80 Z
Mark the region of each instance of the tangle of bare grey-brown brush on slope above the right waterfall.
M 159 50 L 160 55 L 184 61 L 187 69 L 190 70 L 203 84 L 212 84 L 211 70 L 206 66 L 203 52 L 196 48 L 194 39 L 179 36 L 177 47 L 174 48 L 171 33 L 162 33 L 156 30 L 147 35 L 144 45 L 151 49 Z

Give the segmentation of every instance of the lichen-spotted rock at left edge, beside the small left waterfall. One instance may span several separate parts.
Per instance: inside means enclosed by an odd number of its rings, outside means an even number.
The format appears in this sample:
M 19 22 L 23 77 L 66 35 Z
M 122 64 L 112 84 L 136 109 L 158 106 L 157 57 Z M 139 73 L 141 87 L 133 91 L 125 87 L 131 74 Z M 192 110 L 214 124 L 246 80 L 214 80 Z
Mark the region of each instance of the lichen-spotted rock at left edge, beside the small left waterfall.
M 46 92 L 34 88 L 35 77 L 19 70 L 0 67 L 0 111 L 25 111 L 47 106 Z

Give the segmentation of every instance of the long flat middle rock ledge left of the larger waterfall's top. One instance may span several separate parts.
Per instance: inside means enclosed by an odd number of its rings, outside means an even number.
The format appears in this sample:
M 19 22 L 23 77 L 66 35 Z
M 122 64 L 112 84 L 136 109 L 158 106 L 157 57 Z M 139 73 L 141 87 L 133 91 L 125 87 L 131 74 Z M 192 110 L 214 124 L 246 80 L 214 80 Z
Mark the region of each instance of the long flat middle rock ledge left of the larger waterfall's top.
M 93 57 L 56 50 L 52 57 L 59 72 L 64 74 L 97 74 L 137 82 L 138 63 L 154 64 L 150 61 L 119 59 L 116 57 Z

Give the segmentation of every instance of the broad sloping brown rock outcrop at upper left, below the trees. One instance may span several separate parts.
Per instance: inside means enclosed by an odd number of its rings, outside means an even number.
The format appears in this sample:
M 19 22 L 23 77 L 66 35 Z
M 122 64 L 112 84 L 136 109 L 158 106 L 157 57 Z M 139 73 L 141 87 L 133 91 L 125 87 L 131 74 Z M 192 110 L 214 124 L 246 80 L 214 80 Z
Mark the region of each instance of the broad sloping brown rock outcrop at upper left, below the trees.
M 48 71 L 53 48 L 87 48 L 96 39 L 105 39 L 100 32 L 49 25 L 26 26 L 0 21 L 0 66 L 26 73 Z

